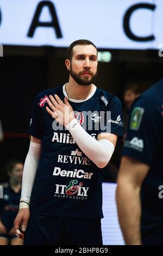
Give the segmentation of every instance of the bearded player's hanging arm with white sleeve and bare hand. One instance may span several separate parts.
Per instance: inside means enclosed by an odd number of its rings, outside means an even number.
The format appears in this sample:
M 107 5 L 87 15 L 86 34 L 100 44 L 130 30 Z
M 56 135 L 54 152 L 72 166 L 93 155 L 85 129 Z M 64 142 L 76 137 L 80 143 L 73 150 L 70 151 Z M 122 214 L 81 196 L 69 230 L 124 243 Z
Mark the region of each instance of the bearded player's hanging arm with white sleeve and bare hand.
M 23 179 L 22 179 L 22 193 L 20 200 L 20 210 L 14 221 L 14 230 L 15 235 L 20 238 L 24 238 L 24 235 L 21 231 L 26 231 L 26 227 L 28 224 L 30 212 L 29 212 L 29 204 L 30 204 L 30 194 L 32 192 L 35 174 L 37 170 L 37 166 L 40 159 L 41 153 L 41 139 L 37 139 L 35 137 L 31 137 L 29 151 L 26 157 L 26 161 L 24 163 L 23 169 Z M 21 231 L 20 231 L 21 229 Z

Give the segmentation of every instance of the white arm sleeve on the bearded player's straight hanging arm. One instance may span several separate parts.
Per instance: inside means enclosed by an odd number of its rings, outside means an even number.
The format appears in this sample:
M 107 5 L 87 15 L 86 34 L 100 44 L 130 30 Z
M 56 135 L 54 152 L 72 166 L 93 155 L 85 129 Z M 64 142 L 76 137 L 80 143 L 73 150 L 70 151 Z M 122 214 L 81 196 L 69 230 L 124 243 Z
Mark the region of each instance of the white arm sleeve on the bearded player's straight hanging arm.
M 30 202 L 30 194 L 32 192 L 37 166 L 40 159 L 41 144 L 30 142 L 29 151 L 24 163 L 23 178 L 22 178 L 22 193 L 21 201 Z M 28 208 L 28 204 L 20 203 L 21 208 Z

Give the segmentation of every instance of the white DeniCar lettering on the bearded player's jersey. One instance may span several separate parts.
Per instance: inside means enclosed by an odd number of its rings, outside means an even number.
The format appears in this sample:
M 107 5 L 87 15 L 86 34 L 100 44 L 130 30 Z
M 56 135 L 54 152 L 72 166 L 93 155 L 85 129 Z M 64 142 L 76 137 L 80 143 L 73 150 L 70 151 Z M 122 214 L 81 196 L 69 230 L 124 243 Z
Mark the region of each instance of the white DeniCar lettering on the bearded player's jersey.
M 87 173 L 82 169 L 74 169 L 73 170 L 61 170 L 60 167 L 55 167 L 54 176 L 61 176 L 61 177 L 71 177 L 71 178 L 78 178 L 78 179 L 91 179 L 93 173 Z

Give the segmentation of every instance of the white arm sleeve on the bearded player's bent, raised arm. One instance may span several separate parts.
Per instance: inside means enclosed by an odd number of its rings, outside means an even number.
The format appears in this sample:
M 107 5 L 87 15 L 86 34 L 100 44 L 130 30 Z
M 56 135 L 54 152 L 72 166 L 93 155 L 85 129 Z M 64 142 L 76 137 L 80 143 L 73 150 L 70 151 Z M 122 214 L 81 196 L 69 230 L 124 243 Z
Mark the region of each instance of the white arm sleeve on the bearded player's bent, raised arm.
M 114 144 L 109 139 L 100 139 L 97 141 L 83 129 L 76 119 L 73 119 L 66 126 L 66 129 L 70 131 L 83 153 L 96 166 L 104 168 L 108 164 L 115 149 Z

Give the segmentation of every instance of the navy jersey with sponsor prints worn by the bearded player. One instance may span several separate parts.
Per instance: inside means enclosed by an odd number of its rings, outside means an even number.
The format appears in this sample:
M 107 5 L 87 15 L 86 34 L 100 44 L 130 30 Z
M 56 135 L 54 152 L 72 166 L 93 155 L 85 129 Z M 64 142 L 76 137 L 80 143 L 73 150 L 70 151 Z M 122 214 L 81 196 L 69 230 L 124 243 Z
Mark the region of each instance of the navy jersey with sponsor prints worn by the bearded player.
M 86 157 L 68 130 L 55 129 L 56 123 L 46 111 L 50 94 L 57 94 L 64 100 L 65 86 L 40 93 L 34 102 L 29 133 L 42 140 L 42 151 L 30 211 L 45 215 L 101 218 L 102 169 Z M 101 132 L 108 132 L 104 129 L 106 124 L 110 125 L 111 133 L 123 136 L 121 102 L 116 96 L 94 86 L 89 99 L 69 102 L 76 119 L 93 138 L 97 139 Z M 103 117 L 100 111 L 105 112 Z M 109 111 L 111 117 L 106 116 Z M 87 126 L 90 120 L 92 129 Z M 97 130 L 102 120 L 105 125 Z

